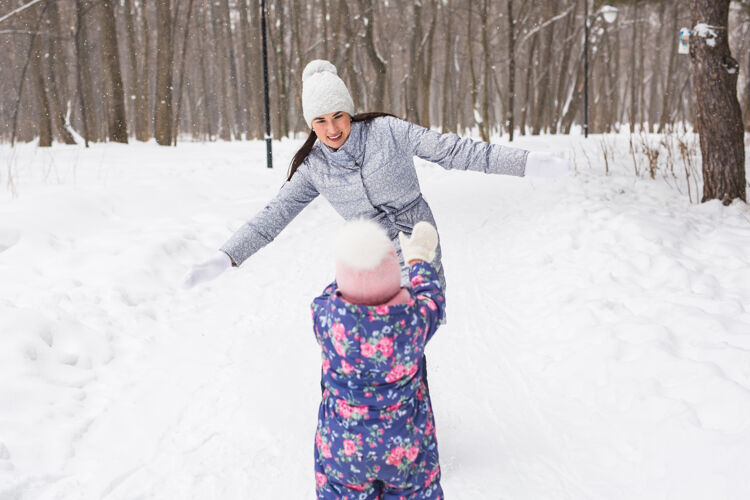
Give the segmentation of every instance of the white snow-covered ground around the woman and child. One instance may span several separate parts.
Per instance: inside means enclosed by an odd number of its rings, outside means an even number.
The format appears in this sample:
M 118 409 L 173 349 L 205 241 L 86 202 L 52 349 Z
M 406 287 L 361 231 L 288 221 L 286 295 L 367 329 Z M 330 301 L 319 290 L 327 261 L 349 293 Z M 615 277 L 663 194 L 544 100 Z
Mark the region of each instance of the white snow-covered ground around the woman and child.
M 0 146 L 0 499 L 314 497 L 308 307 L 341 220 L 316 200 L 178 287 L 300 143 L 270 171 L 261 142 Z M 625 136 L 515 145 L 577 173 L 418 164 L 448 279 L 428 347 L 446 496 L 750 498 L 750 209 L 635 176 Z

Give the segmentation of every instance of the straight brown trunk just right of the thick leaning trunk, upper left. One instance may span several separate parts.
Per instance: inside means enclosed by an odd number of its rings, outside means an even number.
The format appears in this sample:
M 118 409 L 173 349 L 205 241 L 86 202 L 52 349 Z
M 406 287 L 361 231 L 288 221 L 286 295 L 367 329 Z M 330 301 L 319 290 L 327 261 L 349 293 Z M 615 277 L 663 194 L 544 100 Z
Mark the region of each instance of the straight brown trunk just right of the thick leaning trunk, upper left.
M 154 136 L 172 144 L 172 14 L 169 0 L 156 0 L 156 110 Z

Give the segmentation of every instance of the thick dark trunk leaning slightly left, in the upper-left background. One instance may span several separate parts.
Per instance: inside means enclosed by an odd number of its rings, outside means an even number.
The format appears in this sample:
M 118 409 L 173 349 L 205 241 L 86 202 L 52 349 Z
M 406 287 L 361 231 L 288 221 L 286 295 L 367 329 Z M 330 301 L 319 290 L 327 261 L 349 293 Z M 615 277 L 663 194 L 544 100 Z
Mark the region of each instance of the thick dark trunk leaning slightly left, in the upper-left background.
M 114 0 L 101 0 L 102 59 L 106 82 L 107 116 L 109 140 L 128 142 L 128 122 L 125 117 L 125 93 L 120 71 L 120 52 L 117 49 L 117 25 L 115 24 Z

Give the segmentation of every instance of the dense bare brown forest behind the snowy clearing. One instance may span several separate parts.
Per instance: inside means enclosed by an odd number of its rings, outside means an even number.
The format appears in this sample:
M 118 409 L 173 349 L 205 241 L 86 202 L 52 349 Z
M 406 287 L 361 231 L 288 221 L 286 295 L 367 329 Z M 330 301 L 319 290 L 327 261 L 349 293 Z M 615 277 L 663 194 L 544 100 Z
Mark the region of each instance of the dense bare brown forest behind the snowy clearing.
M 695 121 L 687 0 L 589 4 L 589 130 Z M 301 72 L 332 61 L 359 111 L 464 133 L 583 123 L 584 0 L 269 0 L 272 136 L 305 132 Z M 264 137 L 260 0 L 0 0 L 0 141 Z M 729 42 L 750 129 L 750 2 Z M 79 139 L 80 140 L 80 139 Z M 512 135 L 511 135 L 512 140 Z

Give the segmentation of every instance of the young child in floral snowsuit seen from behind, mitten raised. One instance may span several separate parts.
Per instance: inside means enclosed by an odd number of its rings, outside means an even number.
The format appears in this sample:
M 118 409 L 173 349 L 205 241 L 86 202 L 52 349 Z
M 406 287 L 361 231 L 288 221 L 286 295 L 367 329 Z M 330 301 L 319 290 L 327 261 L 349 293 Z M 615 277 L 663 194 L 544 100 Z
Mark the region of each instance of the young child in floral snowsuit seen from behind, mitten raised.
M 323 399 L 315 434 L 319 499 L 441 499 L 425 344 L 445 298 L 430 263 L 435 228 L 399 234 L 411 288 L 387 233 L 347 223 L 336 242 L 336 281 L 312 304 L 322 350 Z

